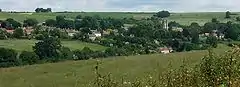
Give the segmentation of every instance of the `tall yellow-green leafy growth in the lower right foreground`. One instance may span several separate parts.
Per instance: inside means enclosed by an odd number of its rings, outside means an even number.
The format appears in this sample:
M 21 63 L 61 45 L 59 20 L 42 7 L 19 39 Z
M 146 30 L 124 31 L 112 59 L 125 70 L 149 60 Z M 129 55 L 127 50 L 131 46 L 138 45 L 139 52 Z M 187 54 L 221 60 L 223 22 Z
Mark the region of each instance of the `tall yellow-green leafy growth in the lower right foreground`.
M 114 79 L 111 74 L 101 74 L 101 61 L 95 67 L 96 79 L 92 87 L 240 87 L 240 48 L 222 55 L 216 55 L 211 49 L 199 64 L 190 65 L 182 61 L 179 68 L 173 68 L 171 62 L 164 72 L 155 71 L 145 78 L 130 81 Z M 158 64 L 157 64 L 158 65 Z

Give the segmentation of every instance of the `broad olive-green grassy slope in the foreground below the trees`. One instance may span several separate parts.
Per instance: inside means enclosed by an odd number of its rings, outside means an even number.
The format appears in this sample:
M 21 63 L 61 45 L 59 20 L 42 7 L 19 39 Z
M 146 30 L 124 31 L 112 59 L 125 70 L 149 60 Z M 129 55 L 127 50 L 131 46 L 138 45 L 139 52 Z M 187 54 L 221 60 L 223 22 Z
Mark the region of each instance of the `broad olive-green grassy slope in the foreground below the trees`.
M 215 52 L 220 54 L 227 49 L 220 45 Z M 154 69 L 164 71 L 169 61 L 172 61 L 173 67 L 181 65 L 184 58 L 196 64 L 206 53 L 193 51 L 108 58 L 102 60 L 100 72 L 111 72 L 119 80 L 122 76 L 130 80 L 144 78 Z M 86 60 L 0 69 L 0 87 L 88 87 L 87 84 L 94 80 L 95 64 L 96 60 Z

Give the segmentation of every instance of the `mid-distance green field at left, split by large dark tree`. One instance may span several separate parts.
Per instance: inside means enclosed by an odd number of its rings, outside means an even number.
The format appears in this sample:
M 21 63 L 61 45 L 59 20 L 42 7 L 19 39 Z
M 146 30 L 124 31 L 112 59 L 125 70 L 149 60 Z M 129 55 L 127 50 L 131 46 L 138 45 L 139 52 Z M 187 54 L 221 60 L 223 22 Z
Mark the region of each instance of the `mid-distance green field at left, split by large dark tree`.
M 0 47 L 11 48 L 17 51 L 32 51 L 36 40 L 0 40 Z M 62 41 L 62 45 L 69 47 L 71 50 L 89 47 L 92 50 L 104 50 L 106 47 L 80 41 Z

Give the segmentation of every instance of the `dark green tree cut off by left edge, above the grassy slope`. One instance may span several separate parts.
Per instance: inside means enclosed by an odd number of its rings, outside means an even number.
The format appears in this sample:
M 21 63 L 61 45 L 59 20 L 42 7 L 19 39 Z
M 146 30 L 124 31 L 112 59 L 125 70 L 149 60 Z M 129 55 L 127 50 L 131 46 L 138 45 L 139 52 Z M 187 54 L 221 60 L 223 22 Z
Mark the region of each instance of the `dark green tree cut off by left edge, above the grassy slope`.
M 0 67 L 18 66 L 17 52 L 12 49 L 0 48 Z

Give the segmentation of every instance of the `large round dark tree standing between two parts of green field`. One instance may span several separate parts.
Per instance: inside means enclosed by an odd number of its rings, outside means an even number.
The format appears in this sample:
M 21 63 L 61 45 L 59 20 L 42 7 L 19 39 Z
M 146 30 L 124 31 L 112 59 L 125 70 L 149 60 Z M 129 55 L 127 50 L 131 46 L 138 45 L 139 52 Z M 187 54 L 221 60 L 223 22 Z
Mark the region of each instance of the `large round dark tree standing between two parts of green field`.
M 61 41 L 58 38 L 45 36 L 42 41 L 33 46 L 33 50 L 41 59 L 56 62 L 59 61 L 61 47 Z

